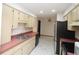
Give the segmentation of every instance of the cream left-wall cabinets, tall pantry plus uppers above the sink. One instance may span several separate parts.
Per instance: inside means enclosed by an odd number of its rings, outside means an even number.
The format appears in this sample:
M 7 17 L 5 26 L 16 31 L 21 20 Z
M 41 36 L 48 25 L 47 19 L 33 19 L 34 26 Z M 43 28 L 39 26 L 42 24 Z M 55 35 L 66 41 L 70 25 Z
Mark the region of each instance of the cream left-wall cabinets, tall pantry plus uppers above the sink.
M 1 44 L 5 44 L 11 41 L 12 29 L 19 26 L 19 23 L 23 24 L 21 26 L 33 27 L 35 20 L 29 14 L 25 14 L 7 4 L 2 4 L 2 25 L 1 25 Z

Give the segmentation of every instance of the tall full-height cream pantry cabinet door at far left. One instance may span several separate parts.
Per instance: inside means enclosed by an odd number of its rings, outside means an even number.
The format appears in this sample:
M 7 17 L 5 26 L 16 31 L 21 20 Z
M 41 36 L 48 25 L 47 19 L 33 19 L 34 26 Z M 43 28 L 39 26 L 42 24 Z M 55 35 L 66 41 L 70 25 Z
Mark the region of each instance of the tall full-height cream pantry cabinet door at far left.
M 11 41 L 11 29 L 13 20 L 13 9 L 3 4 L 2 8 L 2 27 L 1 27 L 1 43 Z

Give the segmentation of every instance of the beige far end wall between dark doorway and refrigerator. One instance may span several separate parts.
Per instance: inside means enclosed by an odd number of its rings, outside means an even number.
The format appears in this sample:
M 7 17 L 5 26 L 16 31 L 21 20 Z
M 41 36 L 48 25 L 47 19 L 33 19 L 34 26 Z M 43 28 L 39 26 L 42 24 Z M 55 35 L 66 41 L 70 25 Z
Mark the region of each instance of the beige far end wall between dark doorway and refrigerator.
M 54 36 L 54 23 L 56 16 L 51 17 L 51 22 L 48 22 L 49 18 L 40 18 L 41 20 L 41 35 Z

